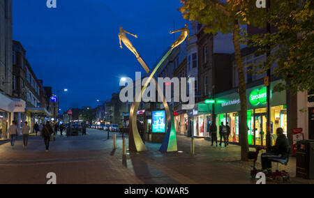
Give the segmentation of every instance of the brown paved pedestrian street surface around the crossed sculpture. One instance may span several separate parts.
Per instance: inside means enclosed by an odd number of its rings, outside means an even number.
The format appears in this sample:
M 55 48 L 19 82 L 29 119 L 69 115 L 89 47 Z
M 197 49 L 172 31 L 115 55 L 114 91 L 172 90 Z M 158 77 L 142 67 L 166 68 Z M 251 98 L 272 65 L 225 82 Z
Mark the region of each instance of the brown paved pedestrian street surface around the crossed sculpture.
M 87 136 L 57 137 L 50 152 L 40 137 L 31 136 L 24 150 L 22 141 L 0 146 L 0 183 L 46 183 L 49 172 L 57 174 L 57 183 L 255 183 L 249 176 L 251 162 L 239 160 L 239 146 L 209 146 L 196 139 L 195 155 L 190 155 L 190 140 L 178 136 L 181 152 L 160 153 L 160 144 L 146 143 L 149 151 L 128 153 L 122 157 L 121 137 L 112 150 L 107 132 L 87 130 Z M 112 134 L 110 134 L 112 136 Z M 292 177 L 294 159 L 289 169 Z M 294 174 L 294 175 L 293 175 Z M 314 183 L 292 178 L 292 183 Z

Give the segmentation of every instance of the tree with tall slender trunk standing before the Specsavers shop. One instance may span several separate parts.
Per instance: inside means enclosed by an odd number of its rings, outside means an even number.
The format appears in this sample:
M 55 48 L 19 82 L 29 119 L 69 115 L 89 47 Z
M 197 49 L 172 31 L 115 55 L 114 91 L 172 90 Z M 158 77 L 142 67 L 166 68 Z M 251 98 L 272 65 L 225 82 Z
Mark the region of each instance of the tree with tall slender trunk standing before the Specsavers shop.
M 240 112 L 240 144 L 241 160 L 248 160 L 248 125 L 246 82 L 244 66 L 241 61 L 241 29 L 240 24 L 261 26 L 265 21 L 262 9 L 256 8 L 255 1 L 249 0 L 181 0 L 184 6 L 179 8 L 184 19 L 194 20 L 205 25 L 205 32 L 216 34 L 233 33 L 235 63 L 239 73 L 239 96 L 241 100 Z

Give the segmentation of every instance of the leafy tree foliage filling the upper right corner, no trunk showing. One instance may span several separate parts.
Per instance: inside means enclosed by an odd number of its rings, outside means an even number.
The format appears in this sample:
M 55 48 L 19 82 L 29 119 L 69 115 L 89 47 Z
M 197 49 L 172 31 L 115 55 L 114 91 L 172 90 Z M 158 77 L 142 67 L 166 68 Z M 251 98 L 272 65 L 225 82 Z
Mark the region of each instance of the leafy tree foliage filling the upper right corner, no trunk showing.
M 273 3 L 274 1 L 271 1 Z M 278 67 L 274 75 L 284 79 L 274 91 L 289 90 L 291 93 L 314 89 L 314 2 L 278 1 L 272 7 L 269 23 L 276 32 L 248 38 L 248 44 L 259 47 L 257 54 L 266 52 L 269 43 L 274 52 L 266 62 L 255 66 L 257 73 L 264 73 L 273 64 Z

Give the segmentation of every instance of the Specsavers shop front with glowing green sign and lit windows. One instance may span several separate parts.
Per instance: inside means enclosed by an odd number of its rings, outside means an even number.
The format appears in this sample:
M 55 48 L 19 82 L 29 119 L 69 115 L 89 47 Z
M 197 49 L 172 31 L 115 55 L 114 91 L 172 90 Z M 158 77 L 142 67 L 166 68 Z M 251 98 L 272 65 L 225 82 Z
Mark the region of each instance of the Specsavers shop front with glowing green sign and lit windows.
M 279 81 L 271 84 L 271 90 Z M 247 125 L 248 144 L 266 146 L 267 132 L 267 92 L 264 85 L 255 86 L 246 91 L 247 98 Z M 239 143 L 239 93 L 231 93 L 225 96 L 218 96 L 218 100 L 224 101 L 215 104 L 216 125 L 221 123 L 230 126 L 229 142 Z M 271 139 L 276 142 L 276 129 L 283 128 L 287 135 L 287 106 L 285 91 L 271 93 Z M 218 135 L 219 136 L 219 135 Z M 220 137 L 218 137 L 220 139 Z

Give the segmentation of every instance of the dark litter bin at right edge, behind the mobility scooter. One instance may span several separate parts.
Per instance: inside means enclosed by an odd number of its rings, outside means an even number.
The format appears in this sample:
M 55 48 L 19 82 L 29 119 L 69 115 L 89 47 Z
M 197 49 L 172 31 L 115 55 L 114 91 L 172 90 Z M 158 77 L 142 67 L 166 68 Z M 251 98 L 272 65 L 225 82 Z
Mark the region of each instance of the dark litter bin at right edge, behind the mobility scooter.
M 314 178 L 314 140 L 297 142 L 297 177 Z

